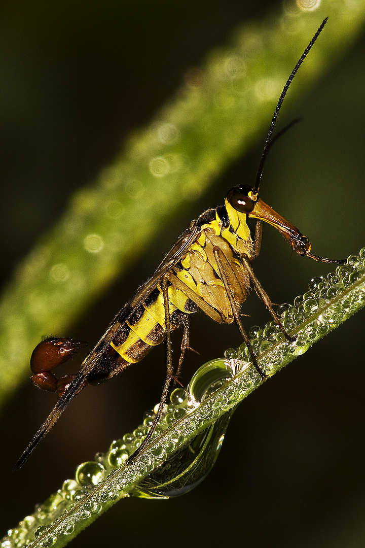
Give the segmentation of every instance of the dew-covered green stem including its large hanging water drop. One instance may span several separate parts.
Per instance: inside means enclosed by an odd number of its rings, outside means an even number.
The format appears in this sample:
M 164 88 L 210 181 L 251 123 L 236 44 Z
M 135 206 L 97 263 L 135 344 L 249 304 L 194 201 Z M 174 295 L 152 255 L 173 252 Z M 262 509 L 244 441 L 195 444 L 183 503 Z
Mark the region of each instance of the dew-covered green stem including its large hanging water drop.
M 286 340 L 273 322 L 253 330 L 251 344 L 260 366 L 273 376 L 364 304 L 365 248 L 326 278 L 313 278 L 293 305 L 279 306 L 283 324 L 296 341 Z M 74 479 L 66 480 L 57 493 L 37 505 L 33 515 L 9 530 L 1 548 L 64 546 L 125 496 L 168 498 L 187 492 L 214 464 L 237 404 L 267 381 L 253 367 L 245 345 L 204 364 L 186 391 L 172 393 L 152 441 L 134 463 L 124 464 L 146 435 L 152 411 L 144 414 L 134 432 L 114 441 L 107 453 L 81 464 Z M 192 454 L 193 459 L 187 457 Z

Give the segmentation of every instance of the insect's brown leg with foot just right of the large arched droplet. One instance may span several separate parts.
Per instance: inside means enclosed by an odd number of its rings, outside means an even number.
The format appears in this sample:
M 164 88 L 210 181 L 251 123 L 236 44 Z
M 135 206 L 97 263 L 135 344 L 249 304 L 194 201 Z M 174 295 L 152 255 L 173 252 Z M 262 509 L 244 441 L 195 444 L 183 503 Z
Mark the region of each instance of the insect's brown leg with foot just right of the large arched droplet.
M 233 316 L 234 316 L 234 319 L 235 319 L 235 322 L 236 322 L 237 326 L 239 327 L 240 333 L 242 335 L 242 339 L 244 339 L 244 341 L 247 345 L 248 352 L 250 352 L 254 367 L 256 368 L 256 370 L 260 374 L 260 376 L 263 379 L 266 379 L 265 373 L 263 372 L 263 370 L 260 368 L 259 364 L 257 363 L 257 359 L 256 359 L 256 356 L 254 354 L 253 348 L 251 346 L 250 339 L 248 338 L 248 335 L 246 333 L 246 329 L 244 328 L 244 326 L 242 324 L 242 321 L 241 321 L 239 307 L 236 305 L 236 302 L 235 302 L 234 296 L 233 296 L 233 292 L 232 292 L 232 290 L 230 288 L 230 285 L 229 285 L 229 282 L 233 285 L 235 285 L 235 282 L 238 283 L 237 278 L 236 278 L 233 270 L 231 269 L 227 258 L 225 257 L 224 253 L 222 252 L 222 249 L 215 246 L 215 247 L 213 247 L 213 253 L 214 253 L 216 261 L 217 261 L 219 275 L 222 278 L 222 282 L 224 284 L 224 288 L 227 292 L 227 296 L 228 296 L 228 299 L 229 299 L 229 304 L 231 305 Z

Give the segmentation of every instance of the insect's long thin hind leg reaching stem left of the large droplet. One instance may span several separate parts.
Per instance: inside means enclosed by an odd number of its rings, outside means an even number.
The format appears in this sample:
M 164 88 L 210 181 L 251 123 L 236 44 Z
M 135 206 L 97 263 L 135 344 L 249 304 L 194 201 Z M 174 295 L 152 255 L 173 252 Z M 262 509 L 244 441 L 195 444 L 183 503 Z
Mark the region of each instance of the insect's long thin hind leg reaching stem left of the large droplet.
M 152 438 L 153 432 L 156 430 L 156 427 L 161 418 L 164 405 L 166 402 L 167 394 L 169 393 L 171 381 L 176 378 L 173 372 L 173 363 L 172 363 L 171 317 L 170 317 L 170 309 L 169 309 L 169 293 L 168 293 L 168 287 L 167 287 L 167 277 L 165 276 L 163 277 L 161 285 L 162 285 L 162 291 L 164 296 L 164 309 L 165 309 L 166 354 L 167 354 L 166 379 L 165 379 L 164 388 L 161 394 L 159 407 L 158 407 L 157 413 L 155 413 L 153 423 L 150 426 L 147 436 L 143 439 L 143 442 L 141 443 L 140 447 L 138 447 L 135 450 L 135 452 L 127 460 L 128 464 L 133 463 L 136 456 L 141 453 L 141 451 L 147 446 L 149 440 Z

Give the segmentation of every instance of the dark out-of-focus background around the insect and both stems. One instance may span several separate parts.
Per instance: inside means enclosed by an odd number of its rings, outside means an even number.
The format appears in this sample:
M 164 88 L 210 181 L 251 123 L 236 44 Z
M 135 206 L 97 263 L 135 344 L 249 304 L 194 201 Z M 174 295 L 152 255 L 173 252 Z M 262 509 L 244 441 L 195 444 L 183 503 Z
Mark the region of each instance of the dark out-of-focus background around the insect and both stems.
M 272 2 L 270 3 L 272 4 Z M 265 2 L 42 2 L 0 8 L 0 243 L 2 281 L 59 218 L 68 197 L 147 123 L 184 72 L 225 43 L 237 22 Z M 305 101 L 283 109 L 303 122 L 271 152 L 261 195 L 311 238 L 319 255 L 343 258 L 365 246 L 365 41 L 339 60 Z M 285 111 L 285 112 L 284 112 Z M 264 140 L 264 136 L 263 136 Z M 232 165 L 209 196 L 180 216 L 125 278 L 101 296 L 69 335 L 94 342 L 189 221 L 251 182 L 262 145 Z M 266 227 L 265 227 L 266 229 Z M 255 269 L 274 302 L 291 302 L 326 265 L 291 256 L 264 232 Z M 268 317 L 253 298 L 248 324 Z M 271 379 L 235 413 L 215 469 L 192 493 L 170 501 L 119 502 L 73 541 L 218 546 L 362 546 L 365 443 L 358 314 Z M 206 343 L 204 342 L 206 340 Z M 192 322 L 187 382 L 199 364 L 240 344 L 234 326 Z M 85 391 L 20 472 L 11 473 L 54 397 L 26 384 L 4 410 L 0 536 L 72 477 L 77 463 L 133 430 L 159 399 L 164 349 L 112 383 Z

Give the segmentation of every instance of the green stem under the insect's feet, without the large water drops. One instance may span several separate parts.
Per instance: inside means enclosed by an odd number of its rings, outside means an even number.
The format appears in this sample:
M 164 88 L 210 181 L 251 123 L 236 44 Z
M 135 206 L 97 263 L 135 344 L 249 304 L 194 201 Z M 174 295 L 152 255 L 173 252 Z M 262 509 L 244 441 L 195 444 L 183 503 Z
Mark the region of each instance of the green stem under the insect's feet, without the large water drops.
M 327 279 L 314 278 L 308 292 L 297 297 L 293 306 L 282 305 L 279 308 L 283 323 L 288 327 L 291 325 L 289 334 L 295 336 L 296 341 L 283 338 L 279 329 L 270 322 L 251 341 L 257 349 L 258 363 L 268 376 L 273 376 L 364 305 L 365 248 L 358 257 L 351 256 L 346 265 L 330 273 Z M 74 488 L 71 496 L 69 488 L 51 496 L 33 516 L 26 517 L 18 528 L 10 531 L 1 548 L 21 548 L 30 540 L 34 541 L 30 545 L 34 548 L 65 546 L 109 506 L 132 494 L 144 478 L 163 466 L 200 432 L 231 412 L 263 383 L 263 379 L 247 361 L 248 358 L 244 361 L 245 345 L 235 353 L 227 351 L 226 354 L 233 374 L 222 387 L 201 402 L 191 402 L 188 412 L 166 431 L 154 435 L 131 465 L 122 465 L 119 469 L 109 465 L 107 476 L 95 487 L 79 484 L 79 489 Z M 106 456 L 105 463 L 109 462 L 108 459 Z M 107 464 L 99 466 L 107 471 Z

